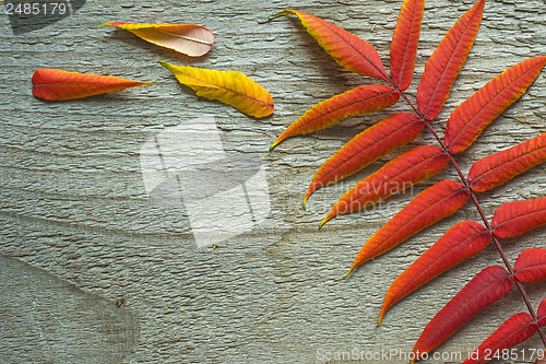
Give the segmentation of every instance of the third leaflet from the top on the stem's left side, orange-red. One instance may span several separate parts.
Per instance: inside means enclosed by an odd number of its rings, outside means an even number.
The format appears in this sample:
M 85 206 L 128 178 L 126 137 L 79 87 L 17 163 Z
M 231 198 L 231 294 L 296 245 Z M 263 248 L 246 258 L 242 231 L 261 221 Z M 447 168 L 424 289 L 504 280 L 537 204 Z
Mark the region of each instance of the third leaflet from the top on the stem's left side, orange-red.
M 419 136 L 425 121 L 415 114 L 399 113 L 357 134 L 332 155 L 311 180 L 304 198 L 366 167 L 377 158 L 410 143 Z

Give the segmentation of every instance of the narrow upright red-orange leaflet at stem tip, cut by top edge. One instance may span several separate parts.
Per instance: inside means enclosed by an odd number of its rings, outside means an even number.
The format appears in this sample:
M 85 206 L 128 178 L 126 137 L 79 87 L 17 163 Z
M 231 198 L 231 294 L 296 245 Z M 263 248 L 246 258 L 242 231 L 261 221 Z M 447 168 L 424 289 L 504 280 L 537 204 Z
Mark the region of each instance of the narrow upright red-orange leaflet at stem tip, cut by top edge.
M 391 75 L 401 91 L 412 83 L 424 9 L 424 0 L 405 0 L 392 36 Z

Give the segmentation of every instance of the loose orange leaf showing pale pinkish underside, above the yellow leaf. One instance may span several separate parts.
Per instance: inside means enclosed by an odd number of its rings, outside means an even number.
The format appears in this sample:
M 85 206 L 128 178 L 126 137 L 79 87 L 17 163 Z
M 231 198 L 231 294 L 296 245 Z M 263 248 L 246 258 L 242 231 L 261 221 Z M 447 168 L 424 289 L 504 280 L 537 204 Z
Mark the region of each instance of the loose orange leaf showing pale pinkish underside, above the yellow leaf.
M 100 25 L 126 30 L 157 46 L 169 48 L 190 57 L 201 57 L 209 52 L 214 43 L 214 34 L 195 24 L 140 24 L 109 22 Z

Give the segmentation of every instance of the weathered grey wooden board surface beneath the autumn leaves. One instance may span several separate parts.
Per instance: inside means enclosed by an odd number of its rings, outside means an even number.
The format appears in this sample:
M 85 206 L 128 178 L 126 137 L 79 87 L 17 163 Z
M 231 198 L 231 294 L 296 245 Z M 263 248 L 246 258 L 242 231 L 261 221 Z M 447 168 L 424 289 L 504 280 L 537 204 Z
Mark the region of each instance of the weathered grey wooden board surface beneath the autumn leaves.
M 399 0 L 87 1 L 71 16 L 17 36 L 11 33 L 8 16 L 2 16 L 0 362 L 309 363 L 322 362 L 321 350 L 411 352 L 426 322 L 477 271 L 500 265 L 499 255 L 487 248 L 399 303 L 376 328 L 384 292 L 453 223 L 479 221 L 475 208 L 468 203 L 456 216 L 340 281 L 363 243 L 411 195 L 393 198 L 382 210 L 335 219 L 318 232 L 318 223 L 340 193 L 377 169 L 378 162 L 347 183 L 316 192 L 307 211 L 301 199 L 316 169 L 333 151 L 388 114 L 347 120 L 268 152 L 274 138 L 311 105 L 360 83 L 373 83 L 343 71 L 296 20 L 268 23 L 268 16 L 285 8 L 322 16 L 369 40 L 388 67 L 400 4 Z M 427 1 L 417 74 L 470 5 Z M 210 55 L 190 60 L 130 33 L 96 28 L 112 20 L 202 24 L 217 42 Z M 545 21 L 544 0 L 488 1 L 476 44 L 435 126 L 443 127 L 454 106 L 500 71 L 545 55 Z M 157 60 L 241 71 L 271 92 L 276 110 L 256 120 L 198 98 Z M 45 103 L 32 96 L 29 80 L 36 69 L 46 67 L 157 82 L 81 101 Z M 407 110 L 407 106 L 399 103 L 392 109 Z M 217 243 L 216 249 L 195 245 L 183 203 L 157 206 L 149 199 L 140 164 L 146 141 L 205 114 L 215 118 L 228 155 L 262 161 L 271 203 L 264 221 Z M 544 115 L 543 73 L 458 161 L 467 171 L 472 161 L 545 132 Z M 415 143 L 427 142 L 434 140 L 424 132 Z M 544 197 L 545 171 L 536 167 L 480 195 L 486 214 L 507 201 Z M 456 175 L 448 168 L 413 193 L 443 178 Z M 509 258 L 514 261 L 525 247 L 544 247 L 545 233 L 542 228 L 507 242 Z M 545 297 L 545 289 L 544 283 L 529 285 L 535 306 Z M 124 300 L 121 307 L 118 300 Z M 513 291 L 439 351 L 466 355 L 506 318 L 522 310 L 523 302 Z M 535 337 L 519 348 L 541 345 Z M 405 361 L 382 361 L 389 362 Z M 520 362 L 530 360 L 520 356 Z

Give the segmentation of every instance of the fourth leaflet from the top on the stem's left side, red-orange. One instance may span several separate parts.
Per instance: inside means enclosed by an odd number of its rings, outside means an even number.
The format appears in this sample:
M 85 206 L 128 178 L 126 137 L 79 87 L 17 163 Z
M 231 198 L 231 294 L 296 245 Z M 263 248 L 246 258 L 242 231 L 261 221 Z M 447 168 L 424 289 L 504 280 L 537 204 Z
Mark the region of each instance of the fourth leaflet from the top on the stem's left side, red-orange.
M 415 146 L 396 156 L 343 195 L 322 220 L 320 226 L 337 215 L 352 213 L 383 201 L 440 173 L 448 163 L 449 154 L 441 148 Z

